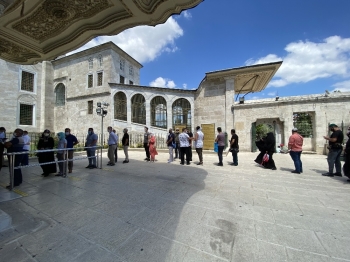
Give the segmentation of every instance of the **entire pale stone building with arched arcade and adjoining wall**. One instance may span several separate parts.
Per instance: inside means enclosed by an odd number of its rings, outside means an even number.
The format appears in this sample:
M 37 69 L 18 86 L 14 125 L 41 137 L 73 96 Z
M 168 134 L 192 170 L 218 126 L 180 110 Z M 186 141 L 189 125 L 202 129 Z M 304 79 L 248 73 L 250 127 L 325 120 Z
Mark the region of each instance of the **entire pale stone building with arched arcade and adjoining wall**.
M 264 124 L 285 144 L 299 113 L 310 119 L 304 150 L 325 153 L 328 123 L 349 123 L 350 94 L 246 100 L 266 88 L 282 62 L 208 72 L 195 90 L 140 86 L 142 65 L 113 43 L 35 65 L 0 60 L 0 125 L 29 132 L 70 127 L 101 132 L 97 102 L 109 104 L 104 127 L 119 132 L 163 134 L 169 128 L 202 126 L 205 148 L 212 149 L 216 128 L 236 129 L 242 151 L 255 151 L 257 127 Z M 341 110 L 340 110 L 341 109 Z M 104 130 L 105 131 L 105 130 Z

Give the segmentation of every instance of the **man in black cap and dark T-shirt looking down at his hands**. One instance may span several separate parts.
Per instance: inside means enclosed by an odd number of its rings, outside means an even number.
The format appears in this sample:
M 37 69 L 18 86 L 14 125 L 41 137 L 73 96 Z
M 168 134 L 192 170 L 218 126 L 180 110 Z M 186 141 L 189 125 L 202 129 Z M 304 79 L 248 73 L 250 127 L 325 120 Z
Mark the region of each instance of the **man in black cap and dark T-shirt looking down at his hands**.
M 331 136 L 323 137 L 324 139 L 329 141 L 329 144 L 328 144 L 329 152 L 327 156 L 328 173 L 324 173 L 322 175 L 330 176 L 330 177 L 342 176 L 340 154 L 343 151 L 342 143 L 344 139 L 344 134 L 336 124 L 330 124 L 329 128 L 332 131 Z M 334 166 L 335 166 L 335 173 L 333 173 Z

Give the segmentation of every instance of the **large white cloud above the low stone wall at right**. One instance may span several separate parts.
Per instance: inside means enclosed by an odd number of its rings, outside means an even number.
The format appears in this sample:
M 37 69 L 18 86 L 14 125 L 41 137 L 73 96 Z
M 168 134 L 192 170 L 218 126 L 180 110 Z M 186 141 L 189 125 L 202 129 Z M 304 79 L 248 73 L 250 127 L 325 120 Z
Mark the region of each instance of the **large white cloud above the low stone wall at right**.
M 284 58 L 269 54 L 246 65 L 283 60 L 269 86 L 282 87 L 291 83 L 306 83 L 319 78 L 350 77 L 350 38 L 331 36 L 320 43 L 293 42 L 286 46 Z

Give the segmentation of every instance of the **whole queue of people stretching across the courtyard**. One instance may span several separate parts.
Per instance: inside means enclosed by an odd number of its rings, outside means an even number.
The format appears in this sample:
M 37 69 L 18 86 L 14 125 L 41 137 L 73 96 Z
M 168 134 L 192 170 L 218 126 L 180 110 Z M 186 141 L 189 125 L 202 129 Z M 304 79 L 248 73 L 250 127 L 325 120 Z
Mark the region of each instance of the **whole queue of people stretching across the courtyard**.
M 328 141 L 328 172 L 323 173 L 323 176 L 342 176 L 341 173 L 341 162 L 340 155 L 343 151 L 343 139 L 344 135 L 340 128 L 335 124 L 330 124 L 329 129 L 332 132 L 330 136 L 324 136 L 324 139 Z M 114 166 L 118 160 L 117 150 L 119 145 L 119 137 L 116 134 L 115 130 L 112 129 L 111 126 L 107 128 L 109 133 L 108 137 L 108 159 L 109 162 L 107 165 Z M 158 155 L 157 151 L 157 139 L 155 134 L 148 131 L 148 127 L 144 127 L 144 150 L 146 153 L 146 161 L 151 163 L 155 162 L 155 158 Z M 288 140 L 288 151 L 291 159 L 294 163 L 295 169 L 291 171 L 295 174 L 303 173 L 303 164 L 301 160 L 302 150 L 303 150 L 303 141 L 304 138 L 299 134 L 297 128 L 293 128 L 292 134 Z M 221 127 L 217 128 L 217 136 L 215 142 L 218 144 L 218 166 L 223 166 L 223 151 L 225 148 L 225 134 L 222 132 Z M 350 182 L 350 127 L 347 130 L 347 136 L 349 137 L 348 142 L 344 148 L 344 156 L 345 156 L 345 164 L 343 166 L 343 173 L 345 176 L 349 178 Z M 73 150 L 65 150 L 65 149 L 73 149 L 75 145 L 79 143 L 78 139 L 71 134 L 71 130 L 69 128 L 65 129 L 65 132 L 57 133 L 57 152 L 54 151 L 45 151 L 38 152 L 38 162 L 41 164 L 42 168 L 42 176 L 47 177 L 52 173 L 56 173 L 56 176 L 65 177 L 66 174 L 66 151 L 68 156 L 68 173 L 72 173 L 73 170 Z M 231 129 L 231 138 L 229 140 L 229 152 L 232 153 L 232 163 L 231 165 L 238 165 L 238 152 L 239 152 L 239 138 L 236 134 L 235 129 Z M 30 151 L 30 137 L 28 132 L 22 129 L 16 129 L 13 133 L 13 136 L 10 140 L 6 138 L 6 130 L 3 127 L 0 127 L 0 169 L 5 165 L 5 161 L 3 159 L 3 151 L 7 149 L 7 152 L 29 152 Z M 94 133 L 93 128 L 88 129 L 88 134 L 86 137 L 85 147 L 86 153 L 88 157 L 89 164 L 86 168 L 94 169 L 97 168 L 96 164 L 96 148 L 97 148 L 98 136 Z M 194 146 L 196 152 L 198 154 L 199 162 L 197 165 L 203 165 L 203 146 L 204 146 L 204 133 L 201 130 L 200 126 L 196 127 L 196 132 L 193 135 L 190 130 L 187 128 L 182 128 L 182 132 L 179 132 L 179 128 L 175 129 L 173 132 L 172 128 L 169 129 L 169 133 L 166 140 L 166 145 L 169 150 L 169 159 L 168 163 L 172 163 L 175 159 L 180 159 L 180 164 L 190 165 L 192 161 L 192 142 L 194 142 Z M 128 129 L 124 128 L 123 137 L 121 140 L 122 147 L 125 154 L 125 160 L 123 163 L 129 163 L 129 134 Z M 260 151 L 256 159 L 254 160 L 257 164 L 264 168 L 268 168 L 271 170 L 277 170 L 275 165 L 275 161 L 273 159 L 273 155 L 276 150 L 276 140 L 275 136 L 272 132 L 267 133 L 265 137 L 256 142 L 256 145 Z M 54 138 L 51 136 L 50 130 L 46 129 L 41 134 L 41 137 L 37 144 L 37 150 L 52 150 L 55 147 Z M 175 151 L 175 157 L 174 157 Z M 57 162 L 55 161 L 55 154 L 57 157 Z M 57 165 L 58 164 L 58 172 Z M 28 165 L 28 154 L 20 154 L 16 155 L 14 158 L 14 166 L 25 166 Z M 335 172 L 334 172 L 335 169 Z M 22 173 L 21 169 L 15 169 L 14 172 L 14 186 L 18 186 L 22 183 Z

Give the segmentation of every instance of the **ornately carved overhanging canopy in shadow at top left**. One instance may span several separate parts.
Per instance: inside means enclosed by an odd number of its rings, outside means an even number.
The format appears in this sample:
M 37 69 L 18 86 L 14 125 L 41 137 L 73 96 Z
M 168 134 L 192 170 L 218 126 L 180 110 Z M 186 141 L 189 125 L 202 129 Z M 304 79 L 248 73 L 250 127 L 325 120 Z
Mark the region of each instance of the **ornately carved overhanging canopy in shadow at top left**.
M 155 26 L 203 0 L 0 0 L 0 58 L 52 60 L 92 38 Z

